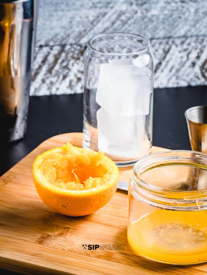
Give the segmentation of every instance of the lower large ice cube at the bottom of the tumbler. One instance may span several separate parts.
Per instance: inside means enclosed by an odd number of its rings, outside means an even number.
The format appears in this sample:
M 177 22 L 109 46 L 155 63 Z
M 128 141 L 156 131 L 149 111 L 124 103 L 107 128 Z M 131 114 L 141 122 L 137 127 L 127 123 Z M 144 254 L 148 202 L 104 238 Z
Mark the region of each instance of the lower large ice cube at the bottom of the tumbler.
M 132 159 L 146 151 L 146 116 L 114 116 L 100 108 L 96 112 L 96 118 L 99 150 Z M 149 142 L 147 146 L 149 147 Z

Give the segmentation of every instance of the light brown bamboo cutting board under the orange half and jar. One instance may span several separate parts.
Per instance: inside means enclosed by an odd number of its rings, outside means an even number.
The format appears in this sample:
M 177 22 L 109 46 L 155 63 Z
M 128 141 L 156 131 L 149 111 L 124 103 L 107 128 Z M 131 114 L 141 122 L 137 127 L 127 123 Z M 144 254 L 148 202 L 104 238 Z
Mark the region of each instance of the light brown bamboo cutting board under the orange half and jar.
M 66 142 L 81 147 L 82 133 L 44 141 L 0 178 L 0 268 L 25 274 L 207 274 L 207 264 L 172 266 L 134 254 L 127 241 L 125 191 L 85 217 L 56 214 L 44 205 L 33 184 L 32 163 Z M 153 147 L 153 152 L 163 150 Z M 120 168 L 120 180 L 128 181 L 132 168 Z M 85 249 L 89 244 L 104 249 Z M 114 250 L 117 244 L 120 250 Z

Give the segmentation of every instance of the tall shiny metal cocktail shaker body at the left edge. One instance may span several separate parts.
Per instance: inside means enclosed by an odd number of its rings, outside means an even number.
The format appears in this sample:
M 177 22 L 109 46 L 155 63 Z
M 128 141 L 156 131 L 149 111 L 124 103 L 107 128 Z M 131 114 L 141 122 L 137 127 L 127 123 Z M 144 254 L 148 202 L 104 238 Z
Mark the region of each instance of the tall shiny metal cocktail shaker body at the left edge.
M 27 126 L 38 0 L 0 0 L 0 140 Z

